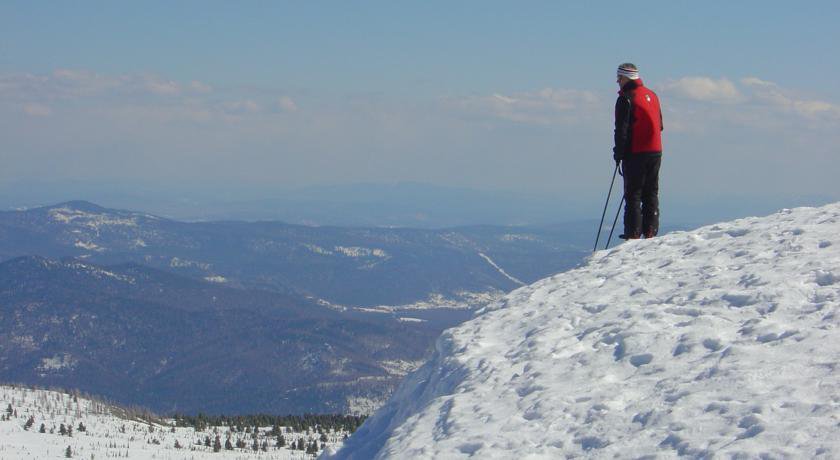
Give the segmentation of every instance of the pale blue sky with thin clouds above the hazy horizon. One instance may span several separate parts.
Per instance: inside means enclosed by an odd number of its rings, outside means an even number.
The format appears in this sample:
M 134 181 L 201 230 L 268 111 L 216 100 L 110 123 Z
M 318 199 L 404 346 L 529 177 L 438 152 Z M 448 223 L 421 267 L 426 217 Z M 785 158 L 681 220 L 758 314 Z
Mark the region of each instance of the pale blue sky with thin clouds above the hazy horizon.
M 834 2 L 3 2 L 0 180 L 595 203 L 631 61 L 665 107 L 665 206 L 840 199 L 838 19 Z

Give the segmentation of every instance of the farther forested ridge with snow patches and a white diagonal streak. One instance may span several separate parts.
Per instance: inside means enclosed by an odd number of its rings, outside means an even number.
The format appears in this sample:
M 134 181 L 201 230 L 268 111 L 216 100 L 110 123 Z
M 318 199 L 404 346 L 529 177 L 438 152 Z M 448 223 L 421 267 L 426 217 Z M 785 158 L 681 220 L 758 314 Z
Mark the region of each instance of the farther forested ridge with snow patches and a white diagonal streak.
M 134 262 L 234 287 L 345 306 L 500 293 L 578 264 L 590 225 L 343 228 L 186 223 L 67 202 L 0 212 L 0 260 L 24 255 Z

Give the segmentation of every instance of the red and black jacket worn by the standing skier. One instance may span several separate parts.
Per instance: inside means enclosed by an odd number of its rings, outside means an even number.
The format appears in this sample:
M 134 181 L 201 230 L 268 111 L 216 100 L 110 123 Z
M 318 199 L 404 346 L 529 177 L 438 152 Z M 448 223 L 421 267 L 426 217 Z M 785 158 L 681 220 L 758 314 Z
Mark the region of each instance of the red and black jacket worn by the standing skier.
M 619 91 L 615 103 L 616 153 L 662 153 L 662 110 L 656 93 L 641 79 Z

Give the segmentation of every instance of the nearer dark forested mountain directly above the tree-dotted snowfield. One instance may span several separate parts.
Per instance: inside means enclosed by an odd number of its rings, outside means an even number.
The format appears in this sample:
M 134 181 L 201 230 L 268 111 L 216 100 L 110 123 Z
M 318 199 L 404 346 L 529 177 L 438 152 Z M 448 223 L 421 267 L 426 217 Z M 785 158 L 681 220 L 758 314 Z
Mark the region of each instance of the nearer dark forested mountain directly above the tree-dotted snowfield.
M 4 381 L 164 412 L 369 409 L 439 333 L 131 263 L 28 256 L 0 264 Z

